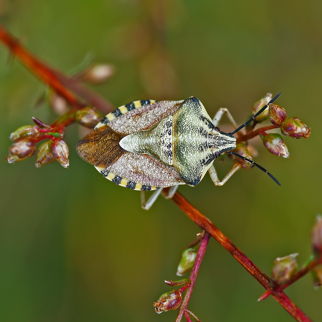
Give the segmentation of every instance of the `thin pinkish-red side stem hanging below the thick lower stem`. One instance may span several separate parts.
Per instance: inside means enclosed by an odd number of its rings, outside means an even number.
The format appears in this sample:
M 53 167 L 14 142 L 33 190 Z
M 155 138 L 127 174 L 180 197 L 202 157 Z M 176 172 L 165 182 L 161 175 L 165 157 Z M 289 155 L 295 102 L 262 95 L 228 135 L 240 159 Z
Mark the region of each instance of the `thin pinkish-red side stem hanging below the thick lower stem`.
M 204 237 L 201 240 L 201 243 L 200 243 L 200 246 L 199 246 L 199 249 L 198 249 L 198 252 L 197 252 L 197 256 L 196 256 L 196 259 L 194 261 L 194 267 L 192 268 L 192 271 L 191 271 L 191 274 L 190 274 L 190 277 L 189 277 L 189 279 L 191 279 L 191 284 L 189 284 L 189 286 L 188 286 L 188 288 L 187 288 L 187 290 L 185 292 L 185 298 L 183 299 L 182 305 L 180 307 L 178 316 L 175 319 L 175 322 L 180 322 L 181 319 L 182 319 L 182 316 L 185 313 L 185 309 L 187 308 L 187 305 L 188 305 L 188 302 L 190 300 L 192 291 L 194 290 L 194 284 L 196 283 L 196 279 L 197 279 L 197 276 L 198 276 L 198 271 L 200 269 L 200 265 L 201 265 L 202 259 L 204 257 L 204 253 L 205 253 L 205 251 L 207 249 L 209 238 L 210 238 L 210 233 L 206 232 L 204 234 Z

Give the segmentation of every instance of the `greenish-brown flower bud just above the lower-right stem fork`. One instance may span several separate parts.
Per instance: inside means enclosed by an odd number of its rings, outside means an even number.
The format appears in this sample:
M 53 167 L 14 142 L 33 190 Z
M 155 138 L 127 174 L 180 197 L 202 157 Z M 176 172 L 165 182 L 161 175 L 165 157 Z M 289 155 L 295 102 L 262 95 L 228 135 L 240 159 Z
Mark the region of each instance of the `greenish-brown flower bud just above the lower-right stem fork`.
M 277 257 L 272 267 L 272 281 L 278 285 L 287 282 L 296 272 L 298 263 L 296 257 L 298 253 L 285 257 Z

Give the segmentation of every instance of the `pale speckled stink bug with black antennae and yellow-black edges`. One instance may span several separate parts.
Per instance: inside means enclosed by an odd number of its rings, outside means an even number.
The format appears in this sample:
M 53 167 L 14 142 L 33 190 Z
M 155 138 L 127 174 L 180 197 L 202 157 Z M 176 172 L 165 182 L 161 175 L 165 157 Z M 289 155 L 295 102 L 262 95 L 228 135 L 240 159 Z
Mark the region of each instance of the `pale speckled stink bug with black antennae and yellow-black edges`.
M 268 104 L 279 97 L 276 95 Z M 117 185 L 141 190 L 141 203 L 149 209 L 162 188 L 170 187 L 171 198 L 179 185 L 197 185 L 208 171 L 215 185 L 223 185 L 241 167 L 235 164 L 222 181 L 213 161 L 222 153 L 234 154 L 237 128 L 228 109 L 219 109 L 213 120 L 196 97 L 181 101 L 141 100 L 123 105 L 106 115 L 95 129 L 77 144 L 78 154 Z M 227 114 L 235 131 L 224 133 L 217 127 Z M 279 184 L 280 185 L 280 184 Z M 157 190 L 156 190 L 157 189 Z M 145 202 L 145 191 L 156 190 Z

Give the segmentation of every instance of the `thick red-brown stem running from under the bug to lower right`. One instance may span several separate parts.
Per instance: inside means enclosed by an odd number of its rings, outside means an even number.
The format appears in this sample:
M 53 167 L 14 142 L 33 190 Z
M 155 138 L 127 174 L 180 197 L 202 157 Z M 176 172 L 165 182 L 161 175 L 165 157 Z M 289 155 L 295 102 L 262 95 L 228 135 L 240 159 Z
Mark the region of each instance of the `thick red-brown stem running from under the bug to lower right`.
M 166 193 L 166 189 L 165 193 Z M 209 232 L 232 256 L 254 277 L 265 289 L 272 289 L 270 278 L 264 274 L 242 251 L 240 251 L 208 218 L 200 213 L 180 193 L 176 192 L 172 200 L 192 219 L 201 229 Z M 291 301 L 282 290 L 272 289 L 272 296 L 285 310 L 299 322 L 312 320 Z M 177 321 L 177 320 L 176 320 Z

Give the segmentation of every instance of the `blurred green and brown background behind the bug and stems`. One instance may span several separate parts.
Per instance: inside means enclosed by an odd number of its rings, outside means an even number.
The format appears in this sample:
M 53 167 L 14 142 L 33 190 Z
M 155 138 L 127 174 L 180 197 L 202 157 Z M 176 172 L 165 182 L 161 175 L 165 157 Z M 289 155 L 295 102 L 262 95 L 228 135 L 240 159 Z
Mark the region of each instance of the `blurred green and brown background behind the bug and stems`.
M 260 269 L 277 256 L 310 255 L 310 230 L 321 212 L 322 2 L 320 0 L 0 0 L 1 22 L 38 56 L 68 72 L 93 53 L 116 73 L 95 88 L 116 107 L 139 99 L 197 96 L 213 116 L 227 107 L 242 124 L 267 92 L 312 128 L 285 137 L 290 158 L 259 141 L 258 169 L 241 170 L 223 187 L 209 176 L 183 193 Z M 0 46 L 0 155 L 9 134 L 31 117 L 43 85 Z M 224 120 L 226 122 L 226 120 Z M 178 279 L 181 251 L 199 228 L 171 201 L 150 211 L 139 192 L 117 186 L 75 151 L 79 127 L 67 129 L 70 167 L 37 169 L 35 157 L 0 162 L 1 321 L 174 321 L 152 303 Z M 221 177 L 232 166 L 216 164 Z M 202 321 L 292 321 L 264 289 L 211 240 L 189 303 Z M 322 290 L 310 276 L 286 293 L 322 321 Z

